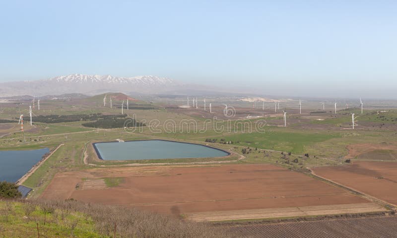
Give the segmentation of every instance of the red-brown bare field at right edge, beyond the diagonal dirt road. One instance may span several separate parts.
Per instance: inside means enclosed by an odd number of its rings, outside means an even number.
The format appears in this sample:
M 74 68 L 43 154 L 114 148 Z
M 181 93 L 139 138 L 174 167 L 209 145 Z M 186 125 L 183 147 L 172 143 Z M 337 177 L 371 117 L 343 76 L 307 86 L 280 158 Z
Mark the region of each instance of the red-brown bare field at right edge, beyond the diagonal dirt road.
M 313 168 L 315 174 L 392 204 L 397 204 L 397 162 L 354 161 Z

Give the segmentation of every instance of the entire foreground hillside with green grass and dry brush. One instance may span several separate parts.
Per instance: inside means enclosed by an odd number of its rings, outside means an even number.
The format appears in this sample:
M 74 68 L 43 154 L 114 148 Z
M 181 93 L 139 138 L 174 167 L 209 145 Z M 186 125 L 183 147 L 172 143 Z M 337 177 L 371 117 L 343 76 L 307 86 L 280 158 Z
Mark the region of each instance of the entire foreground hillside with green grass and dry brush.
M 73 200 L 0 200 L 0 237 L 233 238 L 219 228 Z

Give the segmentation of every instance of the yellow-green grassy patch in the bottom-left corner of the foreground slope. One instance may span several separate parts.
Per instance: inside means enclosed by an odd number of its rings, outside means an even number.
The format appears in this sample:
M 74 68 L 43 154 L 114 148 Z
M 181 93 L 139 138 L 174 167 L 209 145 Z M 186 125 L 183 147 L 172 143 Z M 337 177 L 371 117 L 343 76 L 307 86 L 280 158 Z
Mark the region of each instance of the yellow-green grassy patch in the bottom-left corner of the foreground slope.
M 38 204 L 0 202 L 0 236 L 107 238 L 97 232 L 94 221 L 86 214 Z

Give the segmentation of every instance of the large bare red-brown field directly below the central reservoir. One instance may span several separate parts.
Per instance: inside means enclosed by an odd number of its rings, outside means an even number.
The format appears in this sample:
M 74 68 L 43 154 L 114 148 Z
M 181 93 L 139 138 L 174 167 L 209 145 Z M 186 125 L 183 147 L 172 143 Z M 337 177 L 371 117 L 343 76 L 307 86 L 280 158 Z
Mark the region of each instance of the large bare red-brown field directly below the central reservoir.
M 76 189 L 82 178 L 122 177 L 117 187 Z M 268 165 L 92 169 L 55 176 L 43 198 L 74 198 L 165 214 L 368 203 L 337 187 Z

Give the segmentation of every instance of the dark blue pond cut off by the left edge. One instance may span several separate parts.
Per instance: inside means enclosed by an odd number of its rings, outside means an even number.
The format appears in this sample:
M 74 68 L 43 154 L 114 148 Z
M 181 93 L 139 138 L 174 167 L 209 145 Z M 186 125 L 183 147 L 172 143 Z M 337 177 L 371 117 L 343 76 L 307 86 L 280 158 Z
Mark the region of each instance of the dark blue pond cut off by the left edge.
M 48 152 L 48 148 L 0 151 L 0 181 L 16 182 Z

